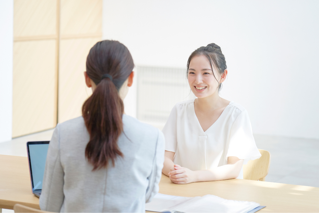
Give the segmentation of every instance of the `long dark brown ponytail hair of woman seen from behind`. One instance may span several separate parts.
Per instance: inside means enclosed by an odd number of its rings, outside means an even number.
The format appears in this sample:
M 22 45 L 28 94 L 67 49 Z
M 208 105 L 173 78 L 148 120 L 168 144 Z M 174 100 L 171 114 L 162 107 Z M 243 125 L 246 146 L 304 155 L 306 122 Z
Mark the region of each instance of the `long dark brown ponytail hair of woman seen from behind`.
M 86 73 L 96 84 L 93 94 L 84 102 L 82 115 L 90 134 L 85 157 L 93 170 L 115 165 L 123 156 L 117 140 L 123 131 L 123 101 L 118 91 L 134 68 L 130 51 L 118 41 L 97 42 L 86 58 Z

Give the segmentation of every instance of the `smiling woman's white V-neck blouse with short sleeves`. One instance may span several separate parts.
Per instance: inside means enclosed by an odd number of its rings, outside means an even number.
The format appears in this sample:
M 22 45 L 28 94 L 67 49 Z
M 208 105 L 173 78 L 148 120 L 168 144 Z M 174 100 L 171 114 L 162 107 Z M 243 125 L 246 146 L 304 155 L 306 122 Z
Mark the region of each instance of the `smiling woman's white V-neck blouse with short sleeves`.
M 261 156 L 247 110 L 231 101 L 205 132 L 195 114 L 194 100 L 177 103 L 162 130 L 165 150 L 175 152 L 174 164 L 192 171 L 226 165 L 229 156 L 244 164 Z M 243 178 L 242 169 L 238 178 Z

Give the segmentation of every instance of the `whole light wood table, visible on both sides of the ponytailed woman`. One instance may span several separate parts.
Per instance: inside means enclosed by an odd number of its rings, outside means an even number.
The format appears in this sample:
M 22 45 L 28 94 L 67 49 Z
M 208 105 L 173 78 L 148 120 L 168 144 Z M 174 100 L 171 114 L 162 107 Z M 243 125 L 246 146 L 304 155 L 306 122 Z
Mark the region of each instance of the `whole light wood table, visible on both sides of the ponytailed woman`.
M 319 212 L 319 188 L 231 179 L 178 185 L 162 175 L 159 193 L 185 197 L 213 194 L 225 199 L 254 201 L 266 208 L 258 212 Z M 0 155 L 0 208 L 20 203 L 39 209 L 39 198 L 31 192 L 26 157 Z

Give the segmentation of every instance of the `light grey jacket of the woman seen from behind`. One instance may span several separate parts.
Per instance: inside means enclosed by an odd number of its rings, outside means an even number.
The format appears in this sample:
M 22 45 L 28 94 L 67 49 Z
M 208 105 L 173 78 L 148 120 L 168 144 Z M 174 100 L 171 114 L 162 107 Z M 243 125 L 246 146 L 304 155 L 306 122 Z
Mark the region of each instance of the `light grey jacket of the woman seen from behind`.
M 85 158 L 90 135 L 83 117 L 57 125 L 50 141 L 40 207 L 61 212 L 144 212 L 158 192 L 164 136 L 123 115 L 115 166 L 93 171 Z

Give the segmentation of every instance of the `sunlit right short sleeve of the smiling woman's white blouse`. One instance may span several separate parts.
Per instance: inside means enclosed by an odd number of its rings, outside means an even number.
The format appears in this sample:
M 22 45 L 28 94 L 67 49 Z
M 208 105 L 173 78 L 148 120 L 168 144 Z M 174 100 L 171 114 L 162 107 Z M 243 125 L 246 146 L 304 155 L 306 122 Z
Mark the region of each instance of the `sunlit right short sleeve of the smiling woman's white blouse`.
M 261 157 L 256 147 L 250 119 L 246 110 L 242 111 L 235 119 L 230 130 L 227 147 L 226 159 L 229 156 L 236 156 L 239 159 L 244 159 L 244 164 L 247 164 L 249 160 Z

